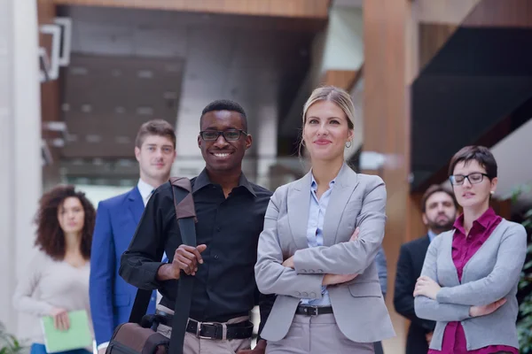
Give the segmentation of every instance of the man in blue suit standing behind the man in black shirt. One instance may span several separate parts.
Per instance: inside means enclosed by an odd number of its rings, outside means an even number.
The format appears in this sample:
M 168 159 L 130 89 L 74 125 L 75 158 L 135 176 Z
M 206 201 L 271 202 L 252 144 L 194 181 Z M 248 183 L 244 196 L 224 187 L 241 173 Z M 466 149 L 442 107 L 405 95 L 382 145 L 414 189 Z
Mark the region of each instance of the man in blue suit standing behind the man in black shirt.
M 114 329 L 129 320 L 137 288 L 120 276 L 121 254 L 129 247 L 145 204 L 154 189 L 168 181 L 176 159 L 176 133 L 165 120 L 143 124 L 135 141 L 140 178 L 137 187 L 98 204 L 90 257 L 90 312 L 98 346 L 104 353 Z M 153 292 L 149 313 L 155 312 Z

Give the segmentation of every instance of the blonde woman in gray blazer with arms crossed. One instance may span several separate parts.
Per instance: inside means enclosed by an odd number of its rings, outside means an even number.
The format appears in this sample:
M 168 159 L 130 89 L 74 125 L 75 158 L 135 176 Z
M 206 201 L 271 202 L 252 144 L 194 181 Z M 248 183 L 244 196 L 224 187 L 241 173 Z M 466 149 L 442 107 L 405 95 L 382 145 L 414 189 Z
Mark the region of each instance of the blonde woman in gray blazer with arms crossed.
M 312 169 L 271 196 L 255 265 L 259 290 L 277 294 L 261 333 L 266 353 L 373 353 L 395 335 L 374 261 L 386 188 L 343 158 L 354 111 L 341 89 L 313 91 L 302 132 Z

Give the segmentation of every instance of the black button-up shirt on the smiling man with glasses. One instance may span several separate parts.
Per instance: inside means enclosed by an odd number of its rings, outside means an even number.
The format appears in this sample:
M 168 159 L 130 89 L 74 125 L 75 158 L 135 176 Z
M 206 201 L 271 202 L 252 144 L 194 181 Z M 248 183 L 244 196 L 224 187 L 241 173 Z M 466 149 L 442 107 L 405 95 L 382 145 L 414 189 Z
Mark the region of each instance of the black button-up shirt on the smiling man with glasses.
M 239 186 L 225 198 L 204 170 L 191 181 L 201 253 L 192 291 L 190 317 L 202 322 L 225 322 L 261 307 L 261 329 L 274 297 L 259 293 L 254 280 L 257 244 L 271 192 L 240 176 Z M 160 304 L 174 309 L 178 281 L 157 281 L 163 251 L 172 262 L 181 235 L 169 182 L 150 197 L 129 249 L 121 257 L 120 275 L 139 289 L 159 289 Z

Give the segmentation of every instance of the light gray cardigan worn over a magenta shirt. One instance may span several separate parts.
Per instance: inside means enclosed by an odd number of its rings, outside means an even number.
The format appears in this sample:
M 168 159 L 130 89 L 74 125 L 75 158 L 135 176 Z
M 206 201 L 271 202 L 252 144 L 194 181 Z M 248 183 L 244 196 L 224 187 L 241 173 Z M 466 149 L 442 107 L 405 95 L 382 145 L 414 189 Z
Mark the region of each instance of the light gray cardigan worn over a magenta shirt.
M 421 319 L 437 321 L 430 348 L 442 350 L 443 332 L 450 321 L 461 321 L 467 350 L 488 345 L 519 348 L 517 319 L 517 284 L 527 252 L 527 232 L 520 224 L 503 219 L 488 240 L 466 263 L 462 282 L 452 261 L 452 237 L 448 231 L 434 238 L 426 251 L 421 275 L 442 286 L 436 300 L 416 296 L 416 314 Z M 472 318 L 473 305 L 491 304 L 501 298 L 506 304 L 496 312 Z

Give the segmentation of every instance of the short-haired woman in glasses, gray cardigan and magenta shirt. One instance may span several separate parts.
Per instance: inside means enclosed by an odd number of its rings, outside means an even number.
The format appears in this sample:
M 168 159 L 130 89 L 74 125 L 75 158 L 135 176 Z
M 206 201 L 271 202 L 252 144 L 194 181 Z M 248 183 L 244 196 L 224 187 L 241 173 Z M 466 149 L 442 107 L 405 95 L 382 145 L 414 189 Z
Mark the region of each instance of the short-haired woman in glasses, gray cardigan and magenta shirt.
M 416 314 L 436 321 L 428 352 L 518 354 L 516 294 L 527 233 L 489 207 L 497 162 L 487 148 L 459 150 L 449 172 L 464 212 L 431 242 L 414 290 Z

